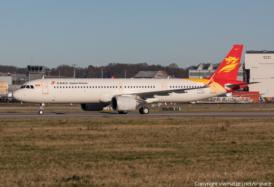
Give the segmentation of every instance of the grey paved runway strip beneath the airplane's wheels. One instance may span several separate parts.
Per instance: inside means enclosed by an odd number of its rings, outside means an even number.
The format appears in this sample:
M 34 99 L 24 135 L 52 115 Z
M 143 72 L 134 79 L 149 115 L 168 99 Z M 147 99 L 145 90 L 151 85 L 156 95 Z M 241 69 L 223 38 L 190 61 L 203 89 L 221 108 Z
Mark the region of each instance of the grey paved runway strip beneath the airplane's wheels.
M 274 117 L 274 111 L 268 112 L 151 112 L 140 113 L 0 113 L 0 118 L 78 118 L 78 117 Z

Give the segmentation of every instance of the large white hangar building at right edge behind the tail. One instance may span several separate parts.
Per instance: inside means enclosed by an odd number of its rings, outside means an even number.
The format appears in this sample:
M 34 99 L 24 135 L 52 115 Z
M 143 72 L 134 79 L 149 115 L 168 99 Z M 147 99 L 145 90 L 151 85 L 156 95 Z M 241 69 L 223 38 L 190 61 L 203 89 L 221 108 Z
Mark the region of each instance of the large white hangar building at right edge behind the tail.
M 245 51 L 246 82 L 260 82 L 248 85 L 248 91 L 259 91 L 263 97 L 273 97 L 274 51 Z M 274 58 L 274 56 L 273 56 Z

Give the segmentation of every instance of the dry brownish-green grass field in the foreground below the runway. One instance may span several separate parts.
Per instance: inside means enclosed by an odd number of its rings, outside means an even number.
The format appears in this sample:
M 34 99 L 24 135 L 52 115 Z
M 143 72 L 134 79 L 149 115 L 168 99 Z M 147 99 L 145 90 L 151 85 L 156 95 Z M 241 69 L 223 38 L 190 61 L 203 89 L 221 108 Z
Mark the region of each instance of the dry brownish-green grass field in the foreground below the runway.
M 273 123 L 107 115 L 1 119 L 0 186 L 273 184 Z

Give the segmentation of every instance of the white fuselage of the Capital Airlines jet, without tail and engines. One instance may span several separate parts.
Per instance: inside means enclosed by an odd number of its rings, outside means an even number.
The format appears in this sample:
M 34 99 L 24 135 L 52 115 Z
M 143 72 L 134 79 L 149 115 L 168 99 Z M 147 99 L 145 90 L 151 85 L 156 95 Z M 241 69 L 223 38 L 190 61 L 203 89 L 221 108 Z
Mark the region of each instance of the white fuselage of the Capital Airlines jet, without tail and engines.
M 207 79 L 37 79 L 26 82 L 29 88 L 16 90 L 12 97 L 31 103 L 108 103 L 114 95 L 193 88 L 184 93 L 156 94 L 146 103 L 191 102 L 224 94 L 200 88 Z M 26 86 L 27 87 L 27 86 Z

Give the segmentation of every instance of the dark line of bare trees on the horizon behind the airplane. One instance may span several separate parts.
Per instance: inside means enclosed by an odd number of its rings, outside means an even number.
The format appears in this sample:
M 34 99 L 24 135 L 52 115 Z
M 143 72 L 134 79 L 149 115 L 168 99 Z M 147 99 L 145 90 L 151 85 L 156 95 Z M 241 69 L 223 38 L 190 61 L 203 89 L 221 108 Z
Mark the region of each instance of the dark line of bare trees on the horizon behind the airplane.
M 204 67 L 208 67 L 210 63 L 202 63 Z M 220 63 L 219 63 L 220 64 Z M 219 65 L 213 64 L 214 67 Z M 106 66 L 94 67 L 93 65 L 89 65 L 88 67 L 75 67 L 75 77 L 76 78 L 101 78 L 102 77 L 102 69 L 103 69 L 103 78 L 111 78 L 115 76 L 115 78 L 125 78 L 125 71 L 126 71 L 126 78 L 134 77 L 139 71 L 163 71 L 165 70 L 168 75 L 174 75 L 175 78 L 188 78 L 188 69 L 191 67 L 197 66 L 190 66 L 187 68 L 179 68 L 177 64 L 172 63 L 168 66 L 162 66 L 160 64 L 156 65 L 148 65 L 147 63 L 139 63 L 139 64 L 120 64 L 120 63 L 110 63 Z M 16 66 L 3 66 L 0 65 L 0 71 L 3 72 L 10 72 L 19 74 L 27 74 L 28 68 L 18 68 Z M 51 76 L 58 76 L 60 70 L 60 76 L 64 77 L 73 77 L 73 70 L 74 66 L 70 66 L 67 64 L 62 64 L 57 66 L 56 68 L 48 68 L 45 67 L 45 74 Z M 48 72 L 50 71 L 50 72 Z

